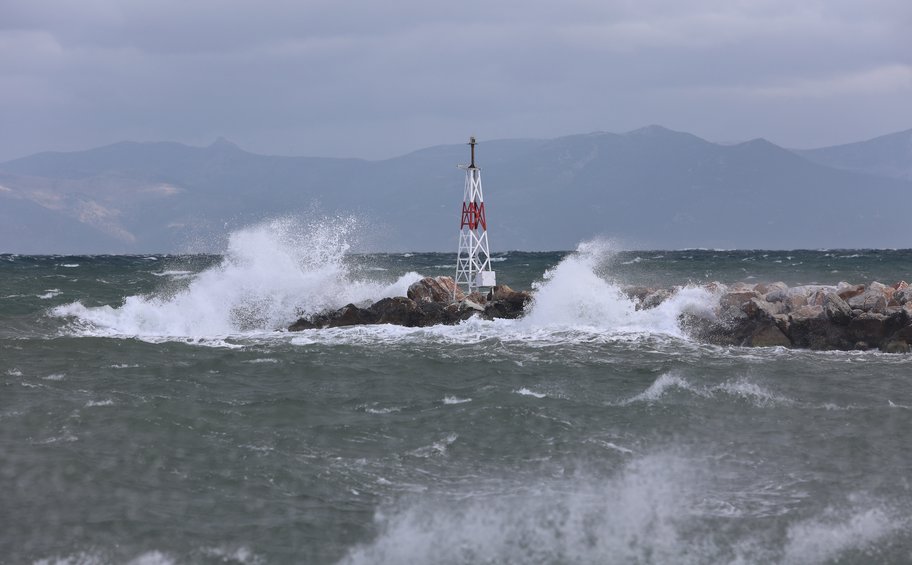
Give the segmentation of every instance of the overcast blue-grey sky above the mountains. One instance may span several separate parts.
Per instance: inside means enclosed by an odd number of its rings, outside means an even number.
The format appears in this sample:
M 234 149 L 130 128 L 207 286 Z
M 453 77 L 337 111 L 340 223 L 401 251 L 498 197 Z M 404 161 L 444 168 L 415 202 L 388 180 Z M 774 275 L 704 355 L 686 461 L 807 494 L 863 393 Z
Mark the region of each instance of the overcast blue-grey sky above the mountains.
M 121 140 L 401 155 L 649 124 L 912 127 L 912 1 L 0 0 L 0 161 Z

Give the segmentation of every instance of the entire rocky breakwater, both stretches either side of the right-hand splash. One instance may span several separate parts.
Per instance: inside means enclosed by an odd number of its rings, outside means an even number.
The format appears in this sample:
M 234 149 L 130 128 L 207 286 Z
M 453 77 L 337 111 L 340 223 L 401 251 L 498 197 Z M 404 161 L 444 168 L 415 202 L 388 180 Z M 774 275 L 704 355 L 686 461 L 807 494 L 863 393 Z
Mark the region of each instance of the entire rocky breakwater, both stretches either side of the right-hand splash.
M 783 346 L 807 349 L 912 351 L 912 286 L 839 283 L 836 286 L 785 283 L 710 283 L 718 296 L 711 311 L 680 315 L 682 327 L 695 339 L 717 345 Z M 677 288 L 629 287 L 638 310 L 655 308 Z M 364 324 L 425 327 L 457 324 L 472 316 L 518 318 L 532 295 L 498 285 L 487 295 L 465 296 L 451 277 L 426 277 L 412 284 L 407 296 L 342 308 L 300 318 L 288 329 L 336 328 Z

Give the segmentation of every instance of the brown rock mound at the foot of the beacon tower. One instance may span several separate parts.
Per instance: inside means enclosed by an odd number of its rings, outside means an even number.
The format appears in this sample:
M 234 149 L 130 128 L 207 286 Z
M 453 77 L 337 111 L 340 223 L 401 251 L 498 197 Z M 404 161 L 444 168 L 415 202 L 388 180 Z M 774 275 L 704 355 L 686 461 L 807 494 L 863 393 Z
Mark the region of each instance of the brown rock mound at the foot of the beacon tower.
M 498 285 L 487 294 L 466 296 L 452 277 L 425 277 L 408 288 L 407 296 L 383 298 L 373 304 L 347 304 L 338 310 L 303 316 L 289 331 L 338 328 L 364 324 L 425 327 L 458 324 L 472 316 L 484 319 L 518 318 L 532 295 Z

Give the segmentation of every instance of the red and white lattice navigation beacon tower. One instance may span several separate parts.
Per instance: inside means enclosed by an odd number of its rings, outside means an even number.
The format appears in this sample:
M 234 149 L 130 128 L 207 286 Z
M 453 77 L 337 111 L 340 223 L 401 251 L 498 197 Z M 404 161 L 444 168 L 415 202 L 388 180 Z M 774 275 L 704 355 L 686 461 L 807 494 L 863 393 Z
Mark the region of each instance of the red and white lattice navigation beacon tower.
M 484 213 L 484 195 L 481 192 L 481 169 L 475 165 L 475 137 L 469 138 L 472 162 L 460 165 L 466 171 L 465 191 L 462 197 L 462 220 L 459 228 L 459 254 L 456 256 L 456 286 L 465 285 L 470 294 L 480 287 L 497 284 L 491 270 L 491 252 L 488 249 L 488 223 Z

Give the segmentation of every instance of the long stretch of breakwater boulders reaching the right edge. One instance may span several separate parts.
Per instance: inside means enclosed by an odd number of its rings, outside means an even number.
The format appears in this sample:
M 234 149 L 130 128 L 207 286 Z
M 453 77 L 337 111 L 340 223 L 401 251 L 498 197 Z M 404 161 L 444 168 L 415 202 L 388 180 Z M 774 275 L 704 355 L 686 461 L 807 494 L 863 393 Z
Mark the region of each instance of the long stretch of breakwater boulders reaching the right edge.
M 682 314 L 696 339 L 718 345 L 783 346 L 816 350 L 912 350 L 912 287 L 839 283 L 708 286 L 719 295 L 711 315 Z M 661 303 L 673 290 L 635 296 L 640 307 Z

